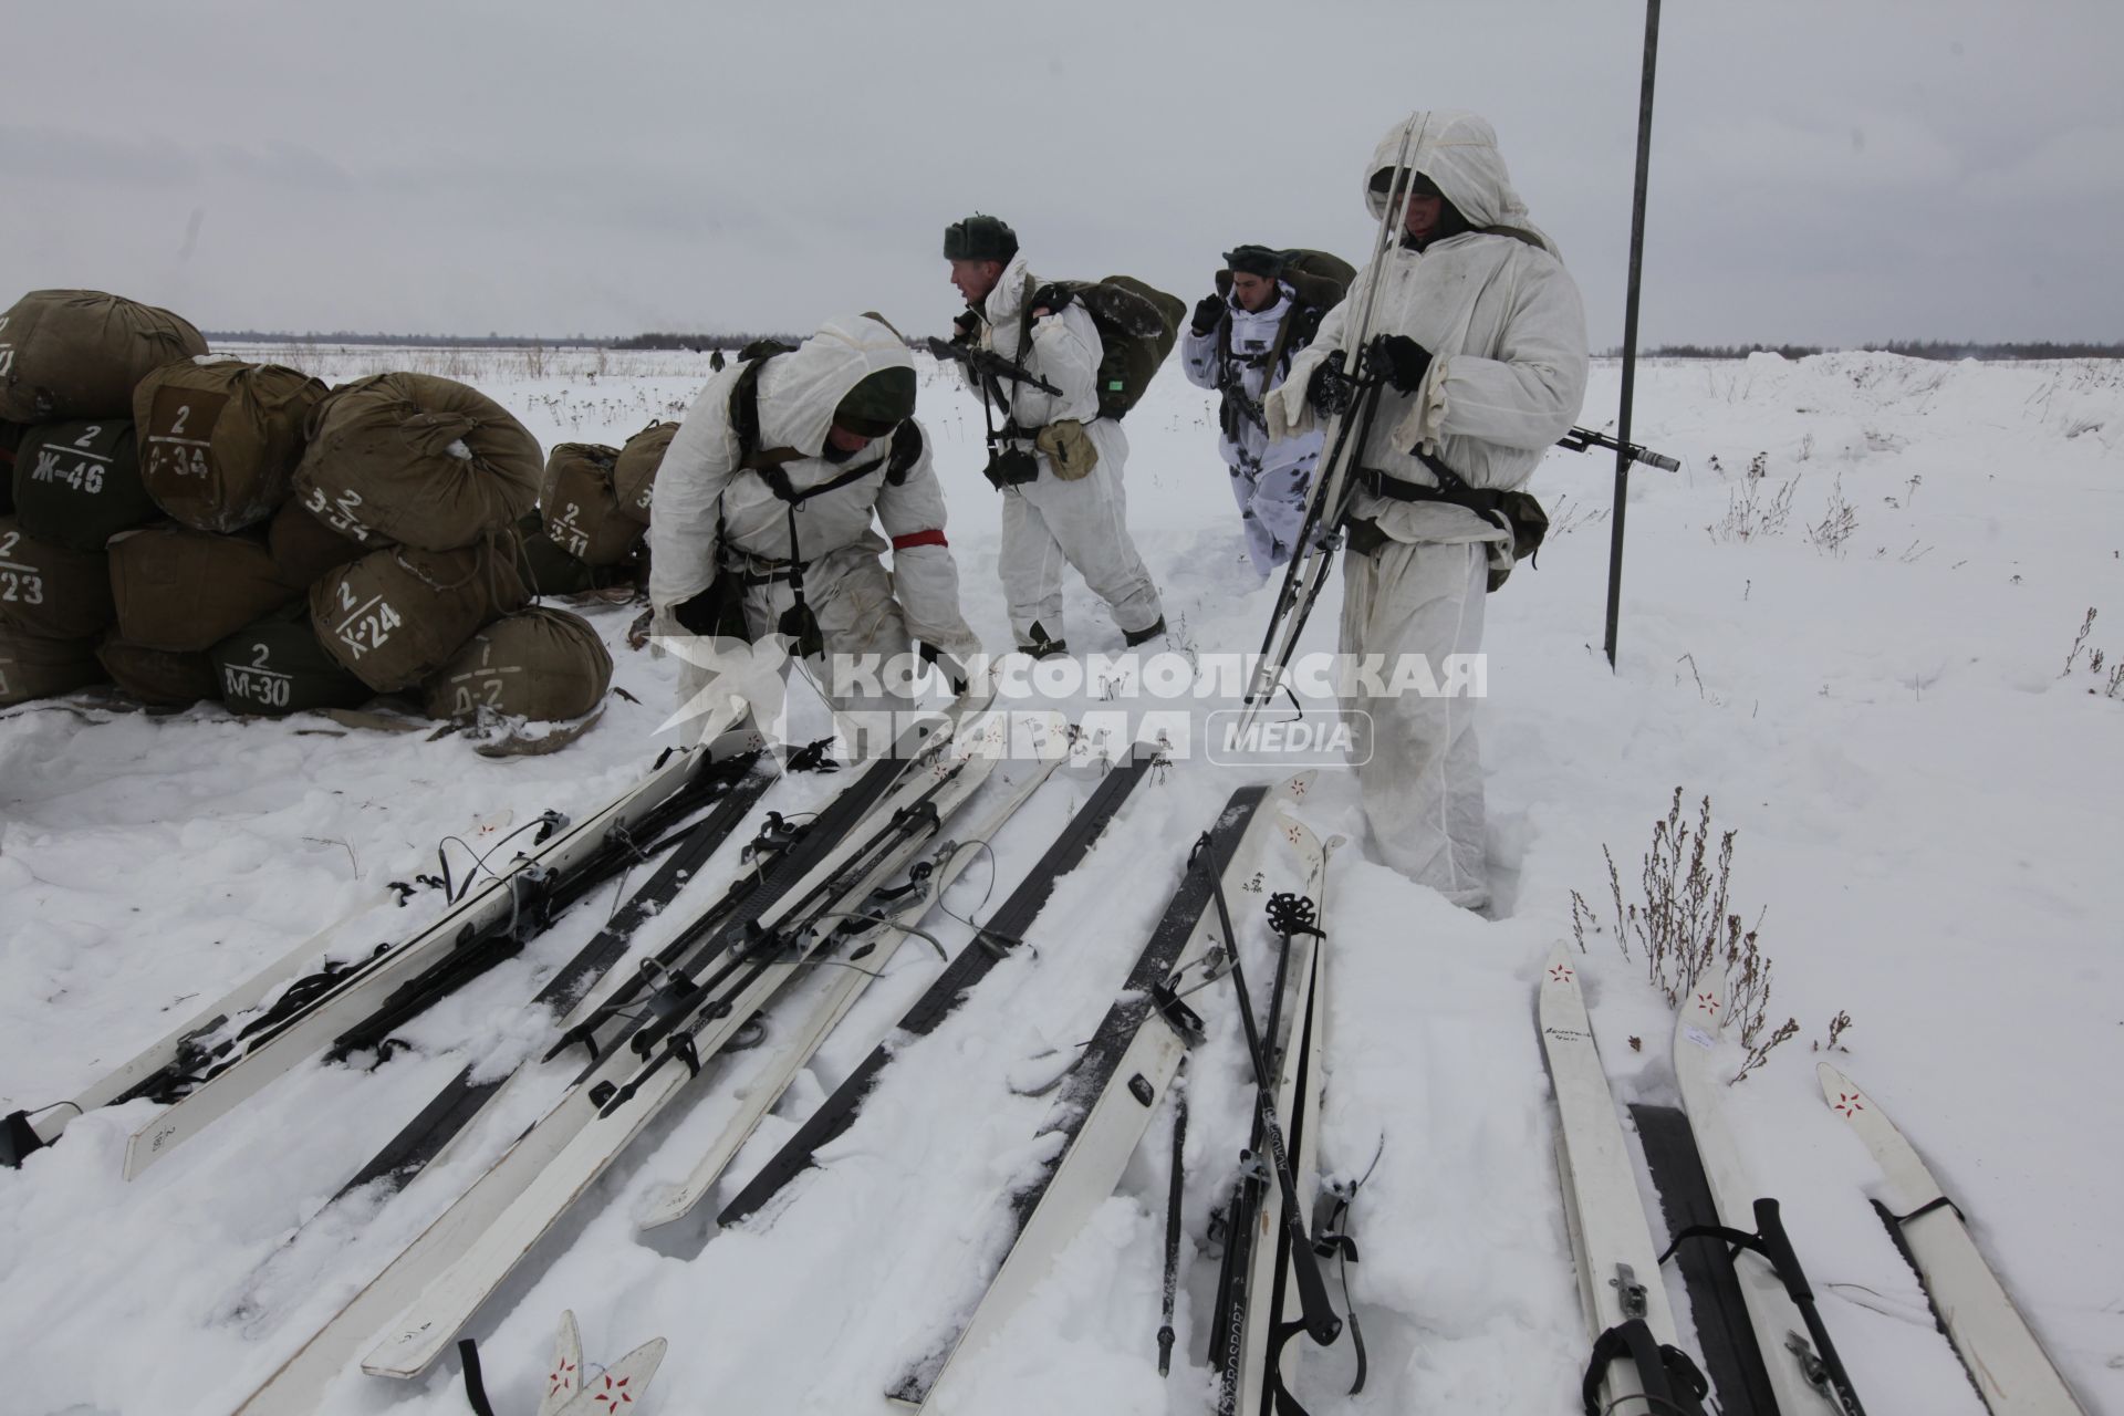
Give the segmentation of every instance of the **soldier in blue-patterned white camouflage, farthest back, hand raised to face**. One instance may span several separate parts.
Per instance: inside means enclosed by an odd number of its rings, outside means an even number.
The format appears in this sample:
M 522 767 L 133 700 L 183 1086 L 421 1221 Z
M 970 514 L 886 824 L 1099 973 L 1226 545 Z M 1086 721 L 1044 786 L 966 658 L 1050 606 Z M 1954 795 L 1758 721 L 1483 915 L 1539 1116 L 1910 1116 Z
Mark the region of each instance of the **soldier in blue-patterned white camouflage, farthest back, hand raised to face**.
M 1181 338 L 1181 367 L 1187 382 L 1221 395 L 1217 450 L 1232 473 L 1247 554 L 1266 577 L 1291 558 L 1298 543 L 1321 433 L 1313 429 L 1268 442 L 1262 397 L 1283 382 L 1291 359 L 1313 342 L 1321 316 L 1342 299 L 1353 272 L 1332 255 L 1268 246 L 1236 246 L 1223 263 L 1217 291 L 1196 304 Z M 1319 274 L 1302 274 L 1300 263 Z

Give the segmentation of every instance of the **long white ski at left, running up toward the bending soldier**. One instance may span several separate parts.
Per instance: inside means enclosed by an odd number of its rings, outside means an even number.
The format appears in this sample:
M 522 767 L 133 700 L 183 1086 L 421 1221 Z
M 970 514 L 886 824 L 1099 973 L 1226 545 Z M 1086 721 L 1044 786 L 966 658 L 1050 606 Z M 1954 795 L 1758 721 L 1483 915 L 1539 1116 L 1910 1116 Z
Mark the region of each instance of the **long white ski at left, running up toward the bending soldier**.
M 756 741 L 756 735 L 746 735 Z M 138 1178 L 155 1161 L 257 1095 L 268 1083 L 299 1066 L 336 1036 L 365 1019 L 401 983 L 418 977 L 455 945 L 459 934 L 482 930 L 516 906 L 512 881 L 531 868 L 567 870 L 601 849 L 614 826 L 637 822 L 644 813 L 673 796 L 695 773 L 703 771 L 716 752 L 673 752 L 648 779 L 618 796 L 603 811 L 578 822 L 501 868 L 499 879 L 472 892 L 442 919 L 348 968 L 336 987 L 323 994 L 302 1015 L 246 1042 L 238 1057 L 215 1072 L 204 1085 L 164 1108 L 140 1125 L 125 1142 L 125 1178 Z

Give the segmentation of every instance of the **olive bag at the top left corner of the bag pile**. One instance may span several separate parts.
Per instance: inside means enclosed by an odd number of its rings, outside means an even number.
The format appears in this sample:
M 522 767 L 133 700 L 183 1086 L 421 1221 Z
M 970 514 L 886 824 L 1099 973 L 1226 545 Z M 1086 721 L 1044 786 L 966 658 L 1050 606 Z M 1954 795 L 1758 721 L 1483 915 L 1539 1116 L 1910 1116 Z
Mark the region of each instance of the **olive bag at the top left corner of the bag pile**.
M 104 291 L 30 291 L 0 314 L 0 418 L 132 418 L 153 369 L 206 352 L 189 321 Z

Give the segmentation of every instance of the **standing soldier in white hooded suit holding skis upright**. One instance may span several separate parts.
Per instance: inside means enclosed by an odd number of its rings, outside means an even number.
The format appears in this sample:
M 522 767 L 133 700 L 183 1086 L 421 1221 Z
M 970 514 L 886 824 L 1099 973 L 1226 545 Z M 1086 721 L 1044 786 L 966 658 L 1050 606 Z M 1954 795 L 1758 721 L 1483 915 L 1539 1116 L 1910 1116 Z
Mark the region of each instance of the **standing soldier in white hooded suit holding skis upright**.
M 1480 650 L 1483 597 L 1514 548 L 1497 503 L 1578 414 L 1585 310 L 1480 117 L 1410 115 L 1381 140 L 1364 178 L 1372 217 L 1400 219 L 1398 240 L 1359 272 L 1351 299 L 1321 321 L 1264 403 L 1274 437 L 1342 412 L 1361 429 L 1349 461 L 1340 647 L 1385 662 L 1376 684 L 1344 679 L 1344 701 L 1370 713 L 1357 720 L 1355 754 L 1366 815 L 1389 864 L 1483 909 L 1474 703 L 1366 690 L 1389 684 L 1412 654 L 1429 660 L 1434 681 L 1453 681 L 1446 658 Z M 1406 206 L 1389 212 L 1404 191 Z M 1361 318 L 1353 308 L 1370 312 L 1359 352 L 1347 348 L 1344 323 Z

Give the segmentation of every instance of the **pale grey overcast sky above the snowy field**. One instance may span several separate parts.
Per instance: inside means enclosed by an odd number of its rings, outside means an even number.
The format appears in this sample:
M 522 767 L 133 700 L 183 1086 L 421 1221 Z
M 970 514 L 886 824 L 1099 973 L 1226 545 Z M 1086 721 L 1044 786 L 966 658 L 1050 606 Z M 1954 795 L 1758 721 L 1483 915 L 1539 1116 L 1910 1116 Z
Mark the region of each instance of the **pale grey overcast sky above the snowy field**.
M 210 329 L 811 329 L 941 227 L 1189 301 L 1361 259 L 1410 108 L 1497 127 L 1621 342 L 1644 8 L 8 0 L 0 274 Z M 1644 340 L 2124 340 L 2124 6 L 1667 4 Z

